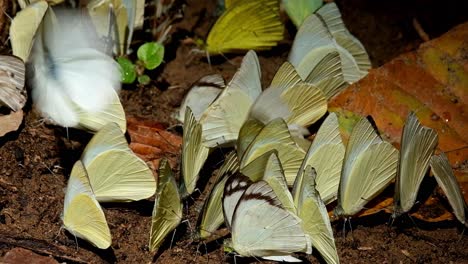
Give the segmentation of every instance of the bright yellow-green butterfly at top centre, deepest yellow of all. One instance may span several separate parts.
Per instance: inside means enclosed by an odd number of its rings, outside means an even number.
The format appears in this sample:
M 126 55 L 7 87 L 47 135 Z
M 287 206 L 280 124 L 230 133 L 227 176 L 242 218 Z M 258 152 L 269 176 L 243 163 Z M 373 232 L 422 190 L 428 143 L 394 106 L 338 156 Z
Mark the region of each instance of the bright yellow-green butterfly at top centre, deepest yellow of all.
M 269 49 L 283 39 L 278 0 L 239 0 L 226 4 L 206 38 L 208 54 Z

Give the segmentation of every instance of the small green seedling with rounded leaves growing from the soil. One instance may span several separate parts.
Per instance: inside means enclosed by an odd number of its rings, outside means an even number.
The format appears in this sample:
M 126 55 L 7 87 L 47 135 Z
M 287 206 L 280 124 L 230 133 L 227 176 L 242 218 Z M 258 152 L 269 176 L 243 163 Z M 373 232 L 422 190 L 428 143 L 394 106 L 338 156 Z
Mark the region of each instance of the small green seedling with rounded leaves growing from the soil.
M 147 42 L 137 51 L 138 60 L 135 64 L 125 57 L 117 58 L 122 72 L 122 83 L 134 83 L 138 79 L 141 84 L 148 84 L 151 79 L 146 70 L 156 69 L 163 61 L 164 46 L 157 42 Z

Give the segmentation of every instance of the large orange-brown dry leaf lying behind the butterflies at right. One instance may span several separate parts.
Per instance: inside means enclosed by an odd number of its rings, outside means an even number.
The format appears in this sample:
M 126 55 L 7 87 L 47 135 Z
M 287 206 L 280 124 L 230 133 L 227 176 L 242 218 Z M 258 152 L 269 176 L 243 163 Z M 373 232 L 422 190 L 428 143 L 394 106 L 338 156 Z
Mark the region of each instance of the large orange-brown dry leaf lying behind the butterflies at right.
M 349 86 L 330 102 L 330 111 L 340 116 L 346 141 L 359 116 L 372 116 L 382 137 L 399 147 L 401 131 L 410 111 L 421 123 L 439 135 L 436 152 L 445 152 L 454 168 L 465 200 L 468 201 L 468 22 L 443 36 L 422 44 L 417 51 L 403 54 L 359 82 Z M 435 200 L 434 200 L 435 199 Z M 391 210 L 388 197 L 361 213 Z M 438 198 L 422 208 L 441 204 Z M 453 216 L 446 208 L 436 216 L 418 212 L 425 221 L 442 221 Z

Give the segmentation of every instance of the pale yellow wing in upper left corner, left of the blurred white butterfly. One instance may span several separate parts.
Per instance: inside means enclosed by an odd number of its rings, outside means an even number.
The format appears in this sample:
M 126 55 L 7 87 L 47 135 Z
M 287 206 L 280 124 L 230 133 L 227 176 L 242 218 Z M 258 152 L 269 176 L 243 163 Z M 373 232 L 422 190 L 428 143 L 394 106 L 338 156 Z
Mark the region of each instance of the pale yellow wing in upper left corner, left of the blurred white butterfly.
M 34 37 L 48 9 L 47 2 L 39 1 L 19 11 L 11 21 L 10 43 L 13 55 L 24 62 L 29 59 Z

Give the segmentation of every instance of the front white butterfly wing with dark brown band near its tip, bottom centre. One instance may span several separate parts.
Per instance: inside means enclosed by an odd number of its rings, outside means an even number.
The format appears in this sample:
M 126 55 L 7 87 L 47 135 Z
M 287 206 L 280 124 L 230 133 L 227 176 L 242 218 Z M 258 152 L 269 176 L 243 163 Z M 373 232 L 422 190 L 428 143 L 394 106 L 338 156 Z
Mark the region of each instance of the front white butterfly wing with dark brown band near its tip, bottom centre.
M 301 220 L 282 207 L 265 181 L 253 183 L 241 196 L 233 215 L 232 246 L 242 256 L 311 252 Z

